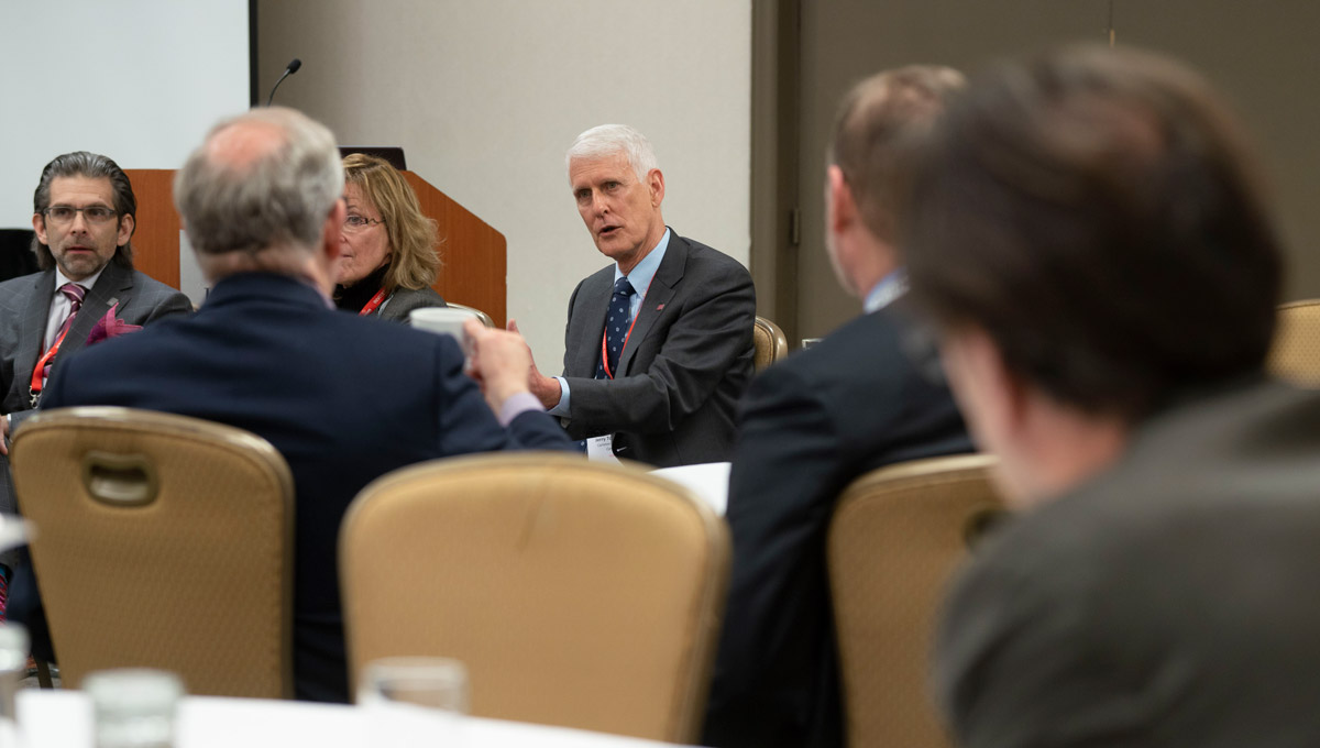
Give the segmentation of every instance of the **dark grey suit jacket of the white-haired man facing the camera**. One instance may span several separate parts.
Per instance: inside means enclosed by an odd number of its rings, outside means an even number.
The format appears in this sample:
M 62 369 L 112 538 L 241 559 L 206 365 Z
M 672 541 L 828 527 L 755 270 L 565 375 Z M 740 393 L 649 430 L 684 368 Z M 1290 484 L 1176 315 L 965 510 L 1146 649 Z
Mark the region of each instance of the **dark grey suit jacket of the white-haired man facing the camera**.
M 578 284 L 569 299 L 569 435 L 615 434 L 615 455 L 657 467 L 729 459 L 734 408 L 755 359 L 756 293 L 747 269 L 671 234 L 619 354 L 619 375 L 597 380 L 612 290 L 610 265 Z

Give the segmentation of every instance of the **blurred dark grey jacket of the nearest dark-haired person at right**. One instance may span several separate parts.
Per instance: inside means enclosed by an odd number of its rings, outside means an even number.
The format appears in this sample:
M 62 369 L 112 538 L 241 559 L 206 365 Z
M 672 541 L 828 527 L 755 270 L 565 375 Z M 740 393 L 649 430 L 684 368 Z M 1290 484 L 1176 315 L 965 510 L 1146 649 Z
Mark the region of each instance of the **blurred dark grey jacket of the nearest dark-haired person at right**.
M 946 604 L 958 745 L 1320 745 L 1320 393 L 1234 383 L 986 538 Z

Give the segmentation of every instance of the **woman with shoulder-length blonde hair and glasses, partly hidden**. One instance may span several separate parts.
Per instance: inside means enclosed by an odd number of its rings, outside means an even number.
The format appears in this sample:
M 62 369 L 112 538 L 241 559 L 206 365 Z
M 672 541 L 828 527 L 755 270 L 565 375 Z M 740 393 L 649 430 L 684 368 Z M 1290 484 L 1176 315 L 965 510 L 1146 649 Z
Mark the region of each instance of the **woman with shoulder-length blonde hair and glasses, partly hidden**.
M 343 173 L 348 215 L 339 235 L 335 305 L 401 322 L 414 309 L 445 306 L 430 288 L 440 266 L 436 222 L 421 214 L 403 174 L 364 153 L 348 154 Z

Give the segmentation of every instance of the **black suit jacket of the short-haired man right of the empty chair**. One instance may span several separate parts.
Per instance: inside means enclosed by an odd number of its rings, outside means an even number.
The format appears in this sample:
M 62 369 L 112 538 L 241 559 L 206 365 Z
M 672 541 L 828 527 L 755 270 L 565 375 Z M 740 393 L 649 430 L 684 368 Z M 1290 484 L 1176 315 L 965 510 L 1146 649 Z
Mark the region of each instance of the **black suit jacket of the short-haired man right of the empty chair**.
M 752 380 L 729 485 L 733 575 L 704 745 L 841 745 L 825 533 L 876 467 L 972 450 L 933 356 L 894 307 Z M 933 367 L 933 371 L 931 368 Z

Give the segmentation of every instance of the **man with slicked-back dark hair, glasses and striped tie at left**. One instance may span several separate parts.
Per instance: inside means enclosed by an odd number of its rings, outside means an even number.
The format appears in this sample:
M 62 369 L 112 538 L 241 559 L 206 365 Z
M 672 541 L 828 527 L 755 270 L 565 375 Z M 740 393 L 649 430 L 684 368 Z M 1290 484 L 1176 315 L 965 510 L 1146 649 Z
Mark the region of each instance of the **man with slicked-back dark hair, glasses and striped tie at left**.
M 41 171 L 32 251 L 42 270 L 0 284 L 0 512 L 15 511 L 8 439 L 40 402 L 55 359 L 77 354 L 111 309 L 127 325 L 191 310 L 186 296 L 133 269 L 136 212 L 128 177 L 104 156 L 66 153 Z

